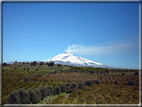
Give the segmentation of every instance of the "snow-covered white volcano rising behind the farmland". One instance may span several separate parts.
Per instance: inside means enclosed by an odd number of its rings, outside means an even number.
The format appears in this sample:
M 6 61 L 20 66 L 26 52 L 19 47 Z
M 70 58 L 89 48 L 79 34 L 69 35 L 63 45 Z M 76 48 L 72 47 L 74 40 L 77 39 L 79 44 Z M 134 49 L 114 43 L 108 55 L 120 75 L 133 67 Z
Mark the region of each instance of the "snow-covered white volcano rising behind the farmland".
M 97 63 L 82 57 L 75 56 L 72 53 L 63 53 L 49 60 L 43 60 L 43 62 L 51 62 L 51 61 L 53 61 L 55 64 L 60 63 L 63 65 L 109 68 L 109 66 L 107 65 L 103 65 L 101 63 Z

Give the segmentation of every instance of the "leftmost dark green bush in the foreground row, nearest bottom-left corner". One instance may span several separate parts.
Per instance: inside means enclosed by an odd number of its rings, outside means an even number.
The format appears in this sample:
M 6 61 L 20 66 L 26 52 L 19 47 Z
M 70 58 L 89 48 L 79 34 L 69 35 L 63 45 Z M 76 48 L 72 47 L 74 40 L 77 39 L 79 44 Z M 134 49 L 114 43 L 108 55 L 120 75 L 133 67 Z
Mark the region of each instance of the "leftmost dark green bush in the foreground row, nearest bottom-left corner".
M 17 91 L 14 90 L 8 95 L 6 104 L 20 104 L 20 98 Z

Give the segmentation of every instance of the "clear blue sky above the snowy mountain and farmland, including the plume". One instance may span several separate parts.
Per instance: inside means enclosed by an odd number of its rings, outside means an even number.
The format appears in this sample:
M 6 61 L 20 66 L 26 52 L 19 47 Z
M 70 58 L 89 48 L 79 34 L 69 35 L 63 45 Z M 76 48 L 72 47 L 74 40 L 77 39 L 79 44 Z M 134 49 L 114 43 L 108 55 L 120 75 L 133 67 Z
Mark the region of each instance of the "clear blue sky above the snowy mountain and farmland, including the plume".
M 3 62 L 70 52 L 139 68 L 139 3 L 3 3 Z

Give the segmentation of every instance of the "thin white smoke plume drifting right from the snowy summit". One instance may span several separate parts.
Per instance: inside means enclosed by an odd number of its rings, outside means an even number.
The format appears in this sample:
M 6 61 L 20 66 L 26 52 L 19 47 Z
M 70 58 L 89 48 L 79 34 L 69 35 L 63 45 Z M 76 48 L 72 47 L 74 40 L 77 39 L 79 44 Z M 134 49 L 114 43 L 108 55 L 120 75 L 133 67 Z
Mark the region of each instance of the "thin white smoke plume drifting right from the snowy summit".
M 84 55 L 97 54 L 139 54 L 138 44 L 115 43 L 105 46 L 83 46 L 72 44 L 65 52 Z

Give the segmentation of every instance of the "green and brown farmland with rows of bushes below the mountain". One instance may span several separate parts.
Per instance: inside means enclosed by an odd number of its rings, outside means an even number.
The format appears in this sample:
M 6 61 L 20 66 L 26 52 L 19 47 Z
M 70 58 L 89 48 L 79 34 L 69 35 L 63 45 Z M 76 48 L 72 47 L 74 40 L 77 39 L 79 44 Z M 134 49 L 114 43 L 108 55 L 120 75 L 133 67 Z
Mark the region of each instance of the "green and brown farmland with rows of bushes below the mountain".
M 138 104 L 139 71 L 54 63 L 4 64 L 3 104 Z

